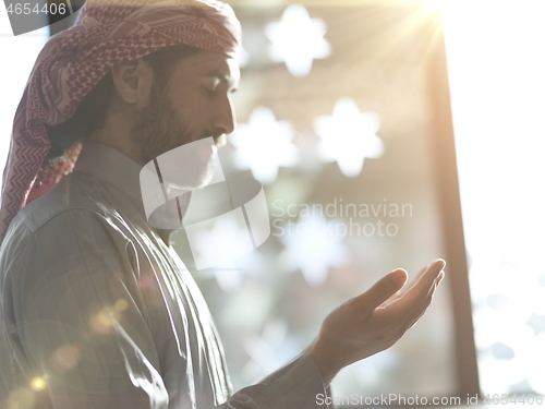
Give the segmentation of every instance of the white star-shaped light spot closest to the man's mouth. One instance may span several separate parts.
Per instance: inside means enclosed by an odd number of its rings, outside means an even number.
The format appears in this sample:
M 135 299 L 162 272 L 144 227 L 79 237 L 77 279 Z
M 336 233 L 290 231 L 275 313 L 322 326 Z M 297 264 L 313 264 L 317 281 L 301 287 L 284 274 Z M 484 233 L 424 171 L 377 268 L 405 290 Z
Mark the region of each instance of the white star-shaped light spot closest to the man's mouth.
M 250 122 L 241 123 L 229 135 L 229 142 L 237 147 L 234 166 L 251 169 L 264 184 L 274 182 L 280 166 L 292 167 L 300 160 L 299 149 L 291 143 L 294 135 L 291 122 L 277 121 L 267 107 L 255 108 Z

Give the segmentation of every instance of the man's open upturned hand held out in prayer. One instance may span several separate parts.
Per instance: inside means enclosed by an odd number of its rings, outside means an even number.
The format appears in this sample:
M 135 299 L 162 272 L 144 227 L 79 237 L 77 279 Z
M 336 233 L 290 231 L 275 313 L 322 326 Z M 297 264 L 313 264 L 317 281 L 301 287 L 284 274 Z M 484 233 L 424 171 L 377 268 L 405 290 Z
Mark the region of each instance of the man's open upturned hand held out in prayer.
M 303 350 L 317 362 L 325 383 L 342 368 L 396 344 L 426 311 L 445 265 L 440 258 L 432 262 L 403 291 L 407 272 L 395 269 L 331 311 L 318 336 Z

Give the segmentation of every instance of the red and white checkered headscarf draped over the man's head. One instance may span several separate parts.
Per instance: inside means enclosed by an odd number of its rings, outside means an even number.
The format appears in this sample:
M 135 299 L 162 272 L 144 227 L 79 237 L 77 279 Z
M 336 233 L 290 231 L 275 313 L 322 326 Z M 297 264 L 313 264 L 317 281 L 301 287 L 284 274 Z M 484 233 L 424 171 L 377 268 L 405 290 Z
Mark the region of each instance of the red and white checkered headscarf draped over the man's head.
M 49 152 L 44 123 L 68 120 L 112 65 L 179 44 L 239 58 L 240 23 L 231 7 L 214 0 L 88 0 L 75 24 L 51 37 L 15 113 L 3 172 L 0 243 L 26 205 Z

